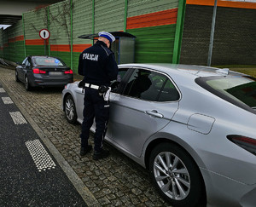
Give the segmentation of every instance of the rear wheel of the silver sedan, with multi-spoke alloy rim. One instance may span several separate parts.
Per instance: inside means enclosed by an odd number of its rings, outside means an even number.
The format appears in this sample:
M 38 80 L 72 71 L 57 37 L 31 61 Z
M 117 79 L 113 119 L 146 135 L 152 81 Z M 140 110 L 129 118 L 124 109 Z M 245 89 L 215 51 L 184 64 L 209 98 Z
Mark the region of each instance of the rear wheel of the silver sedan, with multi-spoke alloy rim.
M 162 143 L 149 159 L 154 187 L 173 206 L 198 206 L 204 194 L 200 171 L 181 147 Z

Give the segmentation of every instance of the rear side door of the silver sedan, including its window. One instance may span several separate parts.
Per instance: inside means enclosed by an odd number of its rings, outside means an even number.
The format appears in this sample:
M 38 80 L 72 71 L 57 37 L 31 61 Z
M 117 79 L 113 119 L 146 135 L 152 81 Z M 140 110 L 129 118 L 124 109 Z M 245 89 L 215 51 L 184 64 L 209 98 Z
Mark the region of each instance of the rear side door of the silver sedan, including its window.
M 118 94 L 111 101 L 108 129 L 112 132 L 112 141 L 139 157 L 148 137 L 170 122 L 177 111 L 179 97 L 166 75 L 136 69 L 124 95 Z

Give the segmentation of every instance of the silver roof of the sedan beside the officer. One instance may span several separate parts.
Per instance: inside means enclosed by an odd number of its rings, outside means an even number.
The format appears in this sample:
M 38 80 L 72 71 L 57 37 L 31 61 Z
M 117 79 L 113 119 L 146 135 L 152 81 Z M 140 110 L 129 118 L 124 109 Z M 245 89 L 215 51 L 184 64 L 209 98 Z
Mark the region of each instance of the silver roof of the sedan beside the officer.
M 190 74 L 192 77 L 211 77 L 211 76 L 241 76 L 244 75 L 240 72 L 230 71 L 228 68 L 220 69 L 210 66 L 195 66 L 195 65 L 182 65 L 182 64 L 169 64 L 169 63 L 150 63 L 150 64 L 121 64 L 119 67 L 143 67 L 154 69 L 160 72 L 176 73 L 176 74 Z

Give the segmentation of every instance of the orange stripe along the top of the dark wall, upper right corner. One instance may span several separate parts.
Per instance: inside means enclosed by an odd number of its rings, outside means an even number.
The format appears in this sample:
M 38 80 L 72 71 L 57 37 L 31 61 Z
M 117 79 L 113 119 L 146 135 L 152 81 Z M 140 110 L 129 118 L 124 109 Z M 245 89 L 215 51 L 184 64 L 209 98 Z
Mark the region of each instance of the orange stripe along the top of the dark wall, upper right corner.
M 187 0 L 187 4 L 214 6 L 214 0 Z M 222 1 L 222 0 L 218 0 L 217 6 L 218 7 L 242 8 L 242 9 L 256 9 L 256 3 L 230 2 L 230 1 Z

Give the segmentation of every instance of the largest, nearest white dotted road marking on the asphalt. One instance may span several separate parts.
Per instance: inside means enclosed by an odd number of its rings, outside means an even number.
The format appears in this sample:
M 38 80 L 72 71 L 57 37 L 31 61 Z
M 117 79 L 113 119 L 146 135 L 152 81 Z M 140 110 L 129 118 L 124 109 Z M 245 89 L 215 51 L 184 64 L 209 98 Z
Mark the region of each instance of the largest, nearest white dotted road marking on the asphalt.
M 26 141 L 25 144 L 39 172 L 55 169 L 55 162 L 50 158 L 49 153 L 39 140 Z

